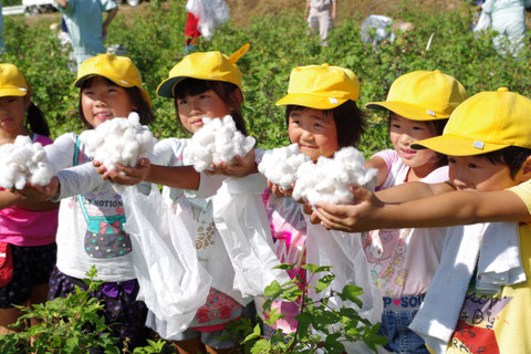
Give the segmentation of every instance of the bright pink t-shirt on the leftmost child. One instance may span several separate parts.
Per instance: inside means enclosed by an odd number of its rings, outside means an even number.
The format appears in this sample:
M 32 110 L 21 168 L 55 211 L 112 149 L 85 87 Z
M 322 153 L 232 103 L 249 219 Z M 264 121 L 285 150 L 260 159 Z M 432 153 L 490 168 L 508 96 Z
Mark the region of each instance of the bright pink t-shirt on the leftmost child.
M 33 142 L 43 146 L 53 142 L 33 134 Z M 0 188 L 3 190 L 3 188 Z M 21 207 L 0 210 L 0 241 L 14 246 L 44 246 L 55 241 L 59 210 L 31 211 Z

